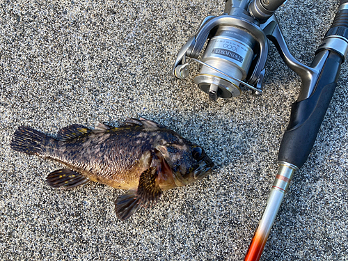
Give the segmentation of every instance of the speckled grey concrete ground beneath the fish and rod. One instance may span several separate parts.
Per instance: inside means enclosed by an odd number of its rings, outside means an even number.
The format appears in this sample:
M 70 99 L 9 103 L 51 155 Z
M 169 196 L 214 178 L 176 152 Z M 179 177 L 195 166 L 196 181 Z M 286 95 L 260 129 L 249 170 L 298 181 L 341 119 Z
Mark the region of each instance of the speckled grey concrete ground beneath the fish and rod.
M 223 1 L 0 2 L 0 259 L 242 260 L 278 169 L 301 81 L 271 45 L 264 95 L 209 102 L 171 67 Z M 309 64 L 338 1 L 287 1 L 290 51 Z M 310 157 L 294 175 L 262 260 L 348 260 L 347 63 Z M 127 117 L 155 120 L 203 145 L 214 173 L 165 191 L 128 221 L 102 184 L 61 191 L 61 168 L 10 150 L 18 125 L 55 134 Z

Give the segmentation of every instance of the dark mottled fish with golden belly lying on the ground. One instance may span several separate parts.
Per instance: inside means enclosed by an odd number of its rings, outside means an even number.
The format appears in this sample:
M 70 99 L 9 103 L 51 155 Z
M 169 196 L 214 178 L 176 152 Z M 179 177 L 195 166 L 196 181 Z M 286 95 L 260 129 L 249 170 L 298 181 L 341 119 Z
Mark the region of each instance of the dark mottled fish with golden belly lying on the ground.
M 164 125 L 127 118 L 118 127 L 73 124 L 56 137 L 19 126 L 10 148 L 61 162 L 46 178 L 49 187 L 70 189 L 100 182 L 127 193 L 116 198 L 116 216 L 128 219 L 139 207 L 155 205 L 163 191 L 212 173 L 214 163 L 199 145 Z

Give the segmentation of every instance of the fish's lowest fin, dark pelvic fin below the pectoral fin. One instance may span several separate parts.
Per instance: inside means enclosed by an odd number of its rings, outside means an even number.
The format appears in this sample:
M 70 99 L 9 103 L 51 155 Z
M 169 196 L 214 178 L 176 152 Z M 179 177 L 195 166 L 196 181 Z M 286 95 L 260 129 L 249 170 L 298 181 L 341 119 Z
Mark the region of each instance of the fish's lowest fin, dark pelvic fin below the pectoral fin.
M 135 191 L 129 191 L 124 195 L 117 197 L 115 202 L 116 216 L 118 219 L 125 221 L 132 216 L 141 206 L 141 199 L 135 194 Z

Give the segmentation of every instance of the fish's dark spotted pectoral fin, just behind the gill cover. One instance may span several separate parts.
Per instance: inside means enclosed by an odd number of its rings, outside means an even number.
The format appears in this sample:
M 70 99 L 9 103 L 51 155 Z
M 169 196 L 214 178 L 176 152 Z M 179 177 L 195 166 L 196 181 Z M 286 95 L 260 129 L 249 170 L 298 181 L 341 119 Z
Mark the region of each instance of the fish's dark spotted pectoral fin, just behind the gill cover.
M 140 175 L 136 196 L 141 198 L 141 203 L 144 205 L 151 205 L 153 202 L 157 203 L 157 200 L 162 194 L 159 184 L 156 182 L 156 177 L 156 167 L 148 168 Z

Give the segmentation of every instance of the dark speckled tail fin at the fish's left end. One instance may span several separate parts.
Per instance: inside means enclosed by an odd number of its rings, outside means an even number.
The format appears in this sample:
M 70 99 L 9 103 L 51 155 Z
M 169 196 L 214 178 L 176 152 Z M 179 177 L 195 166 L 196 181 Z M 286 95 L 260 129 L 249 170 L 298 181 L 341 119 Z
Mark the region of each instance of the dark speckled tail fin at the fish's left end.
M 13 134 L 10 147 L 29 155 L 44 155 L 45 142 L 53 139 L 31 127 L 20 126 Z

